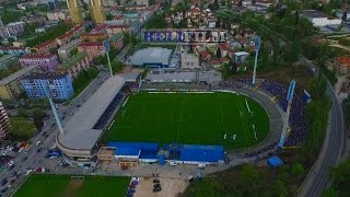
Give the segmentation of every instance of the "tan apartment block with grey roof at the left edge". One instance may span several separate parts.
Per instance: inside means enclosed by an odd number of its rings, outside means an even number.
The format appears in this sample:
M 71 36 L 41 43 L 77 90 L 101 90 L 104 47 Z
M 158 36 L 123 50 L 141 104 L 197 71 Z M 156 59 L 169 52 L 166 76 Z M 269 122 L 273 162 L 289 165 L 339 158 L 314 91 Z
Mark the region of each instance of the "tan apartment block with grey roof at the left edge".
M 0 100 L 12 100 L 20 95 L 23 92 L 21 79 L 26 74 L 37 71 L 39 71 L 39 67 L 37 66 L 25 67 L 0 80 Z

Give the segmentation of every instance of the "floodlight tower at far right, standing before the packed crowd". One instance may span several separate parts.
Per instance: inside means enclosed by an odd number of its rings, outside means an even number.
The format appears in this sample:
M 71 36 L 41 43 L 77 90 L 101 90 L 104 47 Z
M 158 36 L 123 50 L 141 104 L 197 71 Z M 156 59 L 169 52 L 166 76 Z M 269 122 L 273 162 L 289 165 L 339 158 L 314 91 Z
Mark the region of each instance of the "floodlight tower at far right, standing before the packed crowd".
M 280 138 L 280 142 L 278 143 L 279 148 L 283 148 L 284 147 L 284 140 L 285 140 L 285 136 L 287 136 L 287 129 L 288 129 L 288 125 L 289 125 L 289 116 L 291 114 L 291 107 L 292 107 L 292 101 L 293 101 L 293 95 L 294 95 L 294 89 L 295 89 L 295 81 L 292 80 L 291 83 L 289 84 L 289 89 L 288 89 L 288 94 L 287 94 L 287 112 L 285 112 L 285 116 L 283 119 L 283 127 L 282 127 L 282 132 L 281 132 L 281 138 Z

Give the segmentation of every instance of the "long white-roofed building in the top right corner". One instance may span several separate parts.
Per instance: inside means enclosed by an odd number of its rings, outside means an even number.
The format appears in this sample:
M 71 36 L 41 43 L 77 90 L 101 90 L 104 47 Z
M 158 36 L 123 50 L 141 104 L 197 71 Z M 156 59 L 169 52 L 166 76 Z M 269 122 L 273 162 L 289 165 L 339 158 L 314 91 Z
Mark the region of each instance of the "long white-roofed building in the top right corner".
M 316 10 L 302 10 L 300 11 L 300 16 L 308 19 L 308 21 L 312 22 L 316 27 L 341 24 L 340 19 L 335 19 Z

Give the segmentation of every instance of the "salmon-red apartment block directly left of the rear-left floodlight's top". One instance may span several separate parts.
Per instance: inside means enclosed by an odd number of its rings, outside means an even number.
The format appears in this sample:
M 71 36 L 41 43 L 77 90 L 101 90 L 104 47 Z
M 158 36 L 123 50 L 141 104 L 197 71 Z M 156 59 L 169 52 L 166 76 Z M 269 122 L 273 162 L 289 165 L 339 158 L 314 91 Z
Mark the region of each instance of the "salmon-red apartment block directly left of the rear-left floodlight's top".
M 103 42 L 82 43 L 78 45 L 78 51 L 86 53 L 90 61 L 106 54 Z

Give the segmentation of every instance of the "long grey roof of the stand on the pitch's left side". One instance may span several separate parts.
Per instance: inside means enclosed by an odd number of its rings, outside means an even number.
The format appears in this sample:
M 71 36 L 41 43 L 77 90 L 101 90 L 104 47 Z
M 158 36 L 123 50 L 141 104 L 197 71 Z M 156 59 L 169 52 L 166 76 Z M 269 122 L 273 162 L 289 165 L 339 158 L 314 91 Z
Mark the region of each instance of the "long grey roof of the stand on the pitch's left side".
M 103 131 L 93 127 L 124 84 L 125 80 L 118 76 L 107 79 L 65 124 L 65 136 L 59 135 L 59 142 L 68 149 L 91 150 Z

